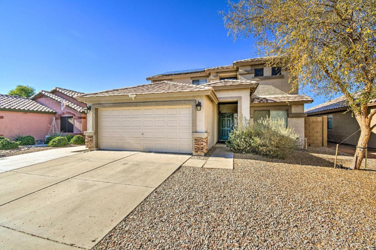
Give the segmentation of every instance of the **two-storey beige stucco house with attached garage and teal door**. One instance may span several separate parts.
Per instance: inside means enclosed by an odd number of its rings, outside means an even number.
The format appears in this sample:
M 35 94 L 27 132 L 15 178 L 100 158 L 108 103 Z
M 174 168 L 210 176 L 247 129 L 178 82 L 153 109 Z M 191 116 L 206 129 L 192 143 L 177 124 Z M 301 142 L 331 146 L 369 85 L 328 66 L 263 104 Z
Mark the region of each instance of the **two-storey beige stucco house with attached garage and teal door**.
M 228 139 L 240 116 L 282 117 L 303 138 L 304 104 L 313 100 L 290 92 L 288 74 L 258 57 L 165 72 L 146 78 L 149 84 L 76 96 L 91 107 L 86 145 L 203 155 Z

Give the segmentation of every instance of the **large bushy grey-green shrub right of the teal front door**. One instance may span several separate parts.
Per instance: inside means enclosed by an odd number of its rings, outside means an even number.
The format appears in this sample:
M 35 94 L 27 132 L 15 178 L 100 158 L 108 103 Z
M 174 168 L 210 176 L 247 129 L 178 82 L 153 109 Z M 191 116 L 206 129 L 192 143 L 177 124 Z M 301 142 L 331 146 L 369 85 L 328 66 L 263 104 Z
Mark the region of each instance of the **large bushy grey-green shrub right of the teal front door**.
M 283 119 L 265 118 L 255 124 L 244 119 L 230 133 L 226 145 L 237 153 L 283 159 L 296 148 L 297 140 L 298 135 L 286 128 Z

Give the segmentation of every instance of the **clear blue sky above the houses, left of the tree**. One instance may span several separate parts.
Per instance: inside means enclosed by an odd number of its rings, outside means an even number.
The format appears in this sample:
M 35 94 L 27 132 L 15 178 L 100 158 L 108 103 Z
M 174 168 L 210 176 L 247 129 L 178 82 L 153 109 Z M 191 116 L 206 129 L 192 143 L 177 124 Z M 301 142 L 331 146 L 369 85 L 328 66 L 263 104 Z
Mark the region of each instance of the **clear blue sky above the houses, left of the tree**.
M 257 56 L 252 39 L 227 36 L 218 14 L 227 8 L 226 0 L 0 1 L 0 93 L 16 84 L 94 92 Z

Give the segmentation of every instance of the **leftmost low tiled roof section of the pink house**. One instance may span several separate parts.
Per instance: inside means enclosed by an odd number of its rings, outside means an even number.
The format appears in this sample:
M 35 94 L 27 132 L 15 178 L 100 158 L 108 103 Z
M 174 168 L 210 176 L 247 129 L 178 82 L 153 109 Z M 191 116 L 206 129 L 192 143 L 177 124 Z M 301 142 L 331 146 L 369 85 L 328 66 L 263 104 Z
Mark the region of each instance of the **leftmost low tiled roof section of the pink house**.
M 26 97 L 0 94 L 0 108 L 41 113 L 56 113 L 54 110 Z

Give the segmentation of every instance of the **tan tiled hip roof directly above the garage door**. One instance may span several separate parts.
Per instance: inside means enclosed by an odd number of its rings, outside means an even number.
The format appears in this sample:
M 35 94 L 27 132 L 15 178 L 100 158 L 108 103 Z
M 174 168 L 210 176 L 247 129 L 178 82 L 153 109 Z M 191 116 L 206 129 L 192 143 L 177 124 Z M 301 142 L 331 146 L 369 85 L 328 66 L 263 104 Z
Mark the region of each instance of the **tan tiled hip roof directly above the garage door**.
M 117 96 L 117 95 L 144 95 L 156 93 L 172 93 L 172 92 L 188 92 L 211 90 L 209 86 L 193 85 L 188 83 L 176 83 L 173 81 L 159 81 L 156 83 L 149 83 L 137 85 L 132 87 L 124 87 L 120 89 L 109 89 L 100 92 L 85 93 L 79 97 L 92 97 L 92 96 Z M 78 97 L 78 96 L 77 96 Z

